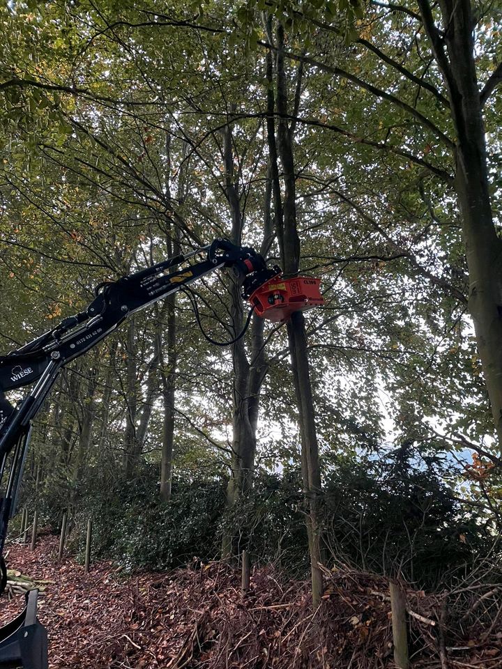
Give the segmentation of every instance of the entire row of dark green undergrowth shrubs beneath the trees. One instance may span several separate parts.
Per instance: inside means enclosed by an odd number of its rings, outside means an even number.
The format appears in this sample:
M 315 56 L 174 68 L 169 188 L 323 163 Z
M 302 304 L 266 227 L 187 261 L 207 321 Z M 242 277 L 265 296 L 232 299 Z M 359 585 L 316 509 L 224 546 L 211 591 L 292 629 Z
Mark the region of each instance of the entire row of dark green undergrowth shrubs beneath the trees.
M 436 472 L 437 459 L 421 459 L 404 445 L 385 459 L 337 458 L 324 465 L 322 523 L 325 560 L 404 578 L 436 588 L 466 576 L 493 550 L 494 535 L 482 516 L 455 498 Z M 427 463 L 429 463 L 427 465 Z M 70 547 L 83 555 L 85 528 L 93 518 L 93 551 L 126 569 L 168 569 L 219 555 L 222 532 L 236 532 L 236 552 L 275 562 L 303 577 L 309 569 L 305 502 L 298 468 L 260 470 L 254 491 L 225 510 L 225 479 L 176 479 L 173 497 L 161 502 L 155 470 L 146 467 L 134 485 L 86 482 L 73 509 Z M 42 516 L 54 500 L 38 500 Z M 31 506 L 31 505 L 30 505 Z M 476 509 L 476 507 L 474 507 Z

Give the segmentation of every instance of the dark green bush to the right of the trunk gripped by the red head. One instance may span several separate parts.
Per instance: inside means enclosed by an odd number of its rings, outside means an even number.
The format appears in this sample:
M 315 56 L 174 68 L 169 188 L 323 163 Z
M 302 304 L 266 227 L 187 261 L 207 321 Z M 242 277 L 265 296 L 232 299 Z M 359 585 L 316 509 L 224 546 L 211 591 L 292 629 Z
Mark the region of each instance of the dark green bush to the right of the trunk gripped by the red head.
M 469 572 L 494 537 L 410 444 L 391 457 L 340 461 L 326 481 L 326 541 L 337 560 L 422 587 Z

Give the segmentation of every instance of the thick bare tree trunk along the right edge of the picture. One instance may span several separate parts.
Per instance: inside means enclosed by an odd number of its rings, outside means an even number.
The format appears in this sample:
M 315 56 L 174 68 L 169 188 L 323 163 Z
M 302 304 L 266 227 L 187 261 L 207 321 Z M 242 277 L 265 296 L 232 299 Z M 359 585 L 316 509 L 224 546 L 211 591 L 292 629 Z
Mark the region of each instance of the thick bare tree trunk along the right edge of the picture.
M 473 13 L 469 0 L 441 0 L 439 5 L 442 33 L 434 24 L 428 0 L 419 0 L 455 124 L 455 188 L 469 268 L 469 312 L 502 449 L 502 240 L 495 230 L 489 198 L 484 100 L 476 77 Z

